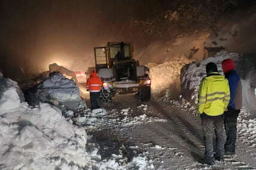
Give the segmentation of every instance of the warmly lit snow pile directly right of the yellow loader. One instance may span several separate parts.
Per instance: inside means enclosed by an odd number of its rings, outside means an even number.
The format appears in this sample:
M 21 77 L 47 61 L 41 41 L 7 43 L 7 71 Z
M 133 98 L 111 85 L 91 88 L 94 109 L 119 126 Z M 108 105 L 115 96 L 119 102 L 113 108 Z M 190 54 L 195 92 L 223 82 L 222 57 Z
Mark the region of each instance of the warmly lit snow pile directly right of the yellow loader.
M 165 89 L 170 89 L 170 96 L 176 98 L 180 89 L 180 70 L 185 66 L 185 64 L 191 63 L 192 61 L 193 60 L 182 55 L 180 58 L 175 58 L 163 64 L 159 64 L 158 66 L 152 67 L 149 72 L 149 77 L 152 81 L 152 94 L 161 95 Z

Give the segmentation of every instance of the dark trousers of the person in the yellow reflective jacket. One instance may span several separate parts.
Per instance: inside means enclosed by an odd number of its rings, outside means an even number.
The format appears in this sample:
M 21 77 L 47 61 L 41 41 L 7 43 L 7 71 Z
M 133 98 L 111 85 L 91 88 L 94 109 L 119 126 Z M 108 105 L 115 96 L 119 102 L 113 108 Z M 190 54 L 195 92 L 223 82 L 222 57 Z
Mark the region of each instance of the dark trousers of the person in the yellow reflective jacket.
M 222 157 L 224 152 L 224 114 L 209 116 L 201 114 L 204 134 L 205 156 L 207 162 L 213 162 L 213 137 L 216 135 L 216 156 Z

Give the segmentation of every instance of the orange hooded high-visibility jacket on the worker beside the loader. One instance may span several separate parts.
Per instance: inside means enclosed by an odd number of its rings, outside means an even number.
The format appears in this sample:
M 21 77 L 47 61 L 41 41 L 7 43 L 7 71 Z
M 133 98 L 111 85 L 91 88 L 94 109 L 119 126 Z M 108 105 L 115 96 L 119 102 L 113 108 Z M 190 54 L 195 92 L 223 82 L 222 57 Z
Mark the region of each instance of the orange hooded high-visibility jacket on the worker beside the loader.
M 103 82 L 97 76 L 97 72 L 94 70 L 91 73 L 90 78 L 86 81 L 86 88 L 89 89 L 90 92 L 99 92 L 101 91 L 101 86 Z

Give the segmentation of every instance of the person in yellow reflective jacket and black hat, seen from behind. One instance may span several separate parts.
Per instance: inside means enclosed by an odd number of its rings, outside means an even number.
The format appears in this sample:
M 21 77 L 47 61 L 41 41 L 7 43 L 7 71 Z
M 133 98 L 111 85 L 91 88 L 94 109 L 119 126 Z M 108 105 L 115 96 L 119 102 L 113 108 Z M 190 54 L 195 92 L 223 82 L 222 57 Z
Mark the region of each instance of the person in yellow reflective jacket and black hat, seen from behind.
M 228 80 L 219 75 L 215 63 L 206 65 L 206 77 L 198 89 L 198 112 L 204 134 L 204 163 L 213 165 L 213 134 L 216 134 L 215 160 L 223 161 L 224 153 L 224 111 L 230 100 Z

